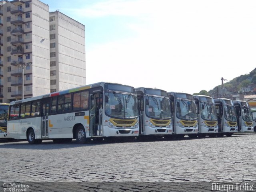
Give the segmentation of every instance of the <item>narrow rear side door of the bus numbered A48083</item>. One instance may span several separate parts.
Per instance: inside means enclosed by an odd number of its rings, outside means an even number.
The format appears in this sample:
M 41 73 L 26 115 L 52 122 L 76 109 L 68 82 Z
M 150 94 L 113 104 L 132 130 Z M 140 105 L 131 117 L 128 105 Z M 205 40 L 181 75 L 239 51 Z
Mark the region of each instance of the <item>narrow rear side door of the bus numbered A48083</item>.
M 49 107 L 50 101 L 43 100 L 42 101 L 42 117 L 41 117 L 41 135 L 42 138 L 48 138 L 48 114 L 49 114 Z

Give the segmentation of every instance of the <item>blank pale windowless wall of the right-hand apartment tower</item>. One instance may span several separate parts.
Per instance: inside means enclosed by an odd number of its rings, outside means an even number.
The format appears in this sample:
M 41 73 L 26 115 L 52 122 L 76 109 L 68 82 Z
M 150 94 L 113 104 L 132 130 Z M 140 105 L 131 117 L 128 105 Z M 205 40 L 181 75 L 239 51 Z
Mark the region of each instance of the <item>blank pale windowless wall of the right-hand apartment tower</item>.
M 56 11 L 56 89 L 86 84 L 84 25 Z M 57 28 L 58 26 L 58 28 Z M 58 61 L 58 62 L 57 62 Z

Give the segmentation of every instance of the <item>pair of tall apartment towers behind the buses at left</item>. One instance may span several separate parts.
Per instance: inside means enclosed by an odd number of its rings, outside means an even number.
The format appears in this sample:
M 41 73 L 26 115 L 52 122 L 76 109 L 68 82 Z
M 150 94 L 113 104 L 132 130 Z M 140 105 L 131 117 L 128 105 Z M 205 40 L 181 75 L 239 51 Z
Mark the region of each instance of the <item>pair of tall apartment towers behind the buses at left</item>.
M 39 0 L 0 1 L 0 102 L 84 84 L 84 25 Z

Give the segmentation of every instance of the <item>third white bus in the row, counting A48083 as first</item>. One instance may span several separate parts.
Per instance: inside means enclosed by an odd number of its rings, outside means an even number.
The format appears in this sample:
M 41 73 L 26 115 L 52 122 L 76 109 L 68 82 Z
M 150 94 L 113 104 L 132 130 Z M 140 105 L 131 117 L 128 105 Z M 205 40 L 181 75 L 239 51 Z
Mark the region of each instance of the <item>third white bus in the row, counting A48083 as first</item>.
M 171 101 L 172 133 L 176 138 L 188 135 L 197 137 L 198 122 L 196 114 L 196 102 L 193 95 L 187 93 L 168 92 Z

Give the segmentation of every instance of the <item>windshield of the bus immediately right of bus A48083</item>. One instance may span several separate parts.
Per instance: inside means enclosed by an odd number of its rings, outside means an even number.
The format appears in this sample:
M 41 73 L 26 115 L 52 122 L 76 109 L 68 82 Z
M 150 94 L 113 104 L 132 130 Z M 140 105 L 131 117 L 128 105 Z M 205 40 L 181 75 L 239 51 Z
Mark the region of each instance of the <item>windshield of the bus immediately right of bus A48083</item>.
M 146 115 L 150 118 L 170 118 L 170 100 L 158 96 L 145 96 Z

